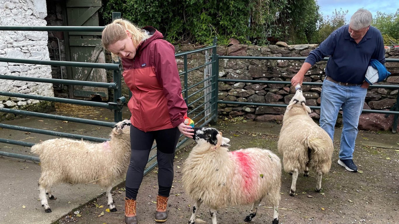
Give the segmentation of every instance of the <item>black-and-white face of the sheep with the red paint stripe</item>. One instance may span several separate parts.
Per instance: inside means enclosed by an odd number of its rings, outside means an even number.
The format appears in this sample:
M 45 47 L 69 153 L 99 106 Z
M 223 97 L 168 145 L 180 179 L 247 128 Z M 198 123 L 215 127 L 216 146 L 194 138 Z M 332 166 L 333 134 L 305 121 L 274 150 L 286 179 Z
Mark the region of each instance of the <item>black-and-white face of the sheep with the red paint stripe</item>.
M 193 139 L 197 143 L 209 143 L 212 145 L 217 145 L 217 139 L 219 132 L 215 128 L 193 128 L 194 136 Z M 228 138 L 222 137 L 221 146 L 229 147 L 227 144 L 230 140 Z

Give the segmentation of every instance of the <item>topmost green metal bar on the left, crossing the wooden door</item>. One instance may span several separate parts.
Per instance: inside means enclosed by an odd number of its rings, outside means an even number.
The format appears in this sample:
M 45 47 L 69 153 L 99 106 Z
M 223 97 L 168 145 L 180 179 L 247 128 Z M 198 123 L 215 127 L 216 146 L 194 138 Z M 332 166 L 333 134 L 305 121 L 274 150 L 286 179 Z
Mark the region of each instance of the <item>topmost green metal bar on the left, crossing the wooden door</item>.
M 0 26 L 6 31 L 85 31 L 101 32 L 105 26 Z

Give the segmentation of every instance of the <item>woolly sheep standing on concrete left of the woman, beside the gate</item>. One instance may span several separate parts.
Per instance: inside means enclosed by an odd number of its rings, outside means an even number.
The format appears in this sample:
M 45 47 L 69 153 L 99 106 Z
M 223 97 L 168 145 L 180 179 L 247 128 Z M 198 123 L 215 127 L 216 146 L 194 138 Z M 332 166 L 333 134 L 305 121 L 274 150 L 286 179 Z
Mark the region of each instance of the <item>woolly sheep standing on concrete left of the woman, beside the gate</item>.
M 51 187 L 58 183 L 88 183 L 97 181 L 107 188 L 108 205 L 115 212 L 111 196 L 112 183 L 126 172 L 130 159 L 130 120 L 115 124 L 111 140 L 103 143 L 57 138 L 32 146 L 40 157 L 41 175 L 38 181 L 41 206 L 51 212 L 47 202 L 57 198 Z

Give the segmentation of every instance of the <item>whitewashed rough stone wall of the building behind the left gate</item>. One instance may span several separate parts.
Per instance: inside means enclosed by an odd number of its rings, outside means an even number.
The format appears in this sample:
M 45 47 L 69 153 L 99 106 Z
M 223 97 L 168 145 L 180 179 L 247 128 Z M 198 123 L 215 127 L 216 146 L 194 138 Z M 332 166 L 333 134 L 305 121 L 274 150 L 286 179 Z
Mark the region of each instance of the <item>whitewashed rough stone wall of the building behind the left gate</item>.
M 45 7 L 45 0 L 0 0 L 0 26 L 46 26 Z M 47 39 L 45 31 L 0 31 L 0 57 L 49 60 Z M 0 62 L 0 74 L 51 78 L 51 67 Z M 54 96 L 50 83 L 0 79 L 0 91 Z M 0 108 L 19 109 L 38 103 L 38 100 L 0 96 Z

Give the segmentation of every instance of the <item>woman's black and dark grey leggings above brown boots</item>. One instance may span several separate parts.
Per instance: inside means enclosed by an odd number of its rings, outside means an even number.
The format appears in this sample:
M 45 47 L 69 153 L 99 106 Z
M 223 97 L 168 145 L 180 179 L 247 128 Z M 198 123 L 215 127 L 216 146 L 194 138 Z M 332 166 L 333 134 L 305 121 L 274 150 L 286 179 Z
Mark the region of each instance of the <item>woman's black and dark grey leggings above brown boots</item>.
M 143 180 L 150 149 L 156 141 L 156 159 L 158 161 L 158 195 L 168 197 L 173 182 L 173 159 L 180 131 L 176 128 L 143 132 L 130 126 L 132 154 L 126 173 L 126 197 L 136 199 Z

